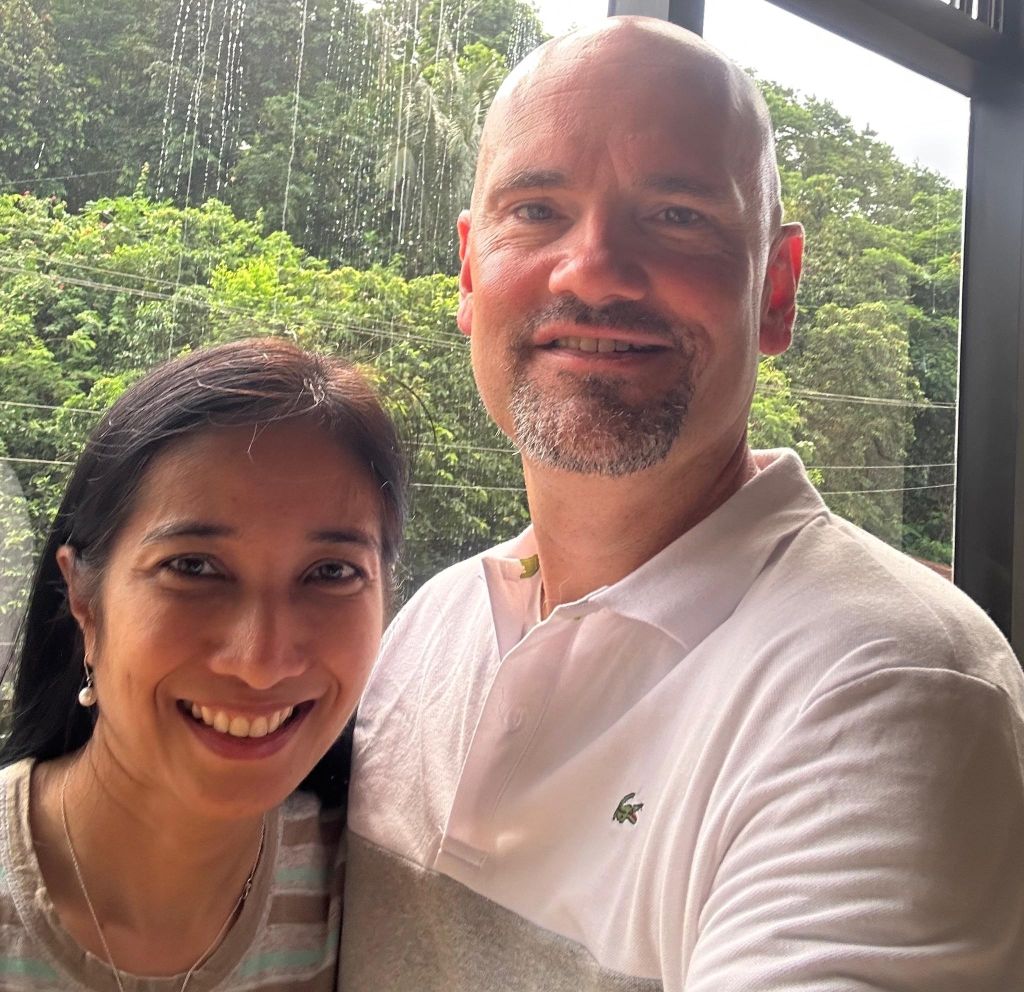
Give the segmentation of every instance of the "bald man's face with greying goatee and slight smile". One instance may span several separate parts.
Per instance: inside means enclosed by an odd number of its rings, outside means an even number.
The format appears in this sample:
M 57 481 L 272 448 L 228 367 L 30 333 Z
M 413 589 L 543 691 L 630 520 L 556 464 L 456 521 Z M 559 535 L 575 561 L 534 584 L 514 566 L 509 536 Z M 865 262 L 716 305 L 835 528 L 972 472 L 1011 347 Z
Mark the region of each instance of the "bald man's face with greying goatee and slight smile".
M 527 460 L 567 471 L 735 447 L 759 338 L 788 342 L 756 128 L 678 58 L 612 46 L 562 69 L 495 112 L 460 220 L 484 404 Z

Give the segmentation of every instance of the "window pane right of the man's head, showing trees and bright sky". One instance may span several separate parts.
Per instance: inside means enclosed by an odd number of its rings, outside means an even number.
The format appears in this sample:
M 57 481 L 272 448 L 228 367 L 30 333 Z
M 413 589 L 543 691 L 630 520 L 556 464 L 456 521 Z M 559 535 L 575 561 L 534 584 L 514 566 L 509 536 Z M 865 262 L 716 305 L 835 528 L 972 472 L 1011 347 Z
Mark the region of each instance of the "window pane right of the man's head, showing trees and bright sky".
M 795 443 L 833 509 L 948 566 L 969 102 L 765 0 L 709 0 L 705 29 L 759 78 L 807 229 L 754 440 Z

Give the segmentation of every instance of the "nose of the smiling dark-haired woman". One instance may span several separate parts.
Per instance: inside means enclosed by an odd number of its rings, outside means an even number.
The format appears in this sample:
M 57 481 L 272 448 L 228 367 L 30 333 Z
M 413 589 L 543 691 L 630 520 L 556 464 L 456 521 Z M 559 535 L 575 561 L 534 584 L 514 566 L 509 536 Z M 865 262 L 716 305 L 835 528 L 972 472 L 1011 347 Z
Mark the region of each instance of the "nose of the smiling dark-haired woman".
M 305 671 L 307 638 L 307 624 L 288 596 L 253 595 L 238 604 L 225 624 L 210 668 L 217 675 L 233 676 L 250 688 L 269 689 Z

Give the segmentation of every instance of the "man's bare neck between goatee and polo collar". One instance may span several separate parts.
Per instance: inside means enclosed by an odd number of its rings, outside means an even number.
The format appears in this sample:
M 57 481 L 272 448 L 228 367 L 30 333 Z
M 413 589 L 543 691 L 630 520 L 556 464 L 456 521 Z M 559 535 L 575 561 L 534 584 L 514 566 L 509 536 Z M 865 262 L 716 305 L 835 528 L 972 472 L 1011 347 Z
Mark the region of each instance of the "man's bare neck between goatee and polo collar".
M 726 457 L 621 478 L 524 463 L 544 583 L 542 613 L 610 586 L 717 510 L 757 474 L 745 438 Z

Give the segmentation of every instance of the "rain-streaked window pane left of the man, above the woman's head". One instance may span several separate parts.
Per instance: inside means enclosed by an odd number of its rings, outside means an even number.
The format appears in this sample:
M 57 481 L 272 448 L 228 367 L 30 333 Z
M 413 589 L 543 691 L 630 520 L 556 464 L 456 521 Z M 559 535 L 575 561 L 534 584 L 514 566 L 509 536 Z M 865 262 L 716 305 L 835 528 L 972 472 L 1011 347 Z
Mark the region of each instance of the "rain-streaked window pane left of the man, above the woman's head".
M 455 220 L 509 69 L 605 0 L 0 0 L 0 615 L 98 413 L 283 334 L 380 375 L 408 594 L 526 519 L 455 325 Z M 27 542 L 29 544 L 27 544 Z

